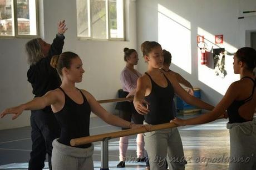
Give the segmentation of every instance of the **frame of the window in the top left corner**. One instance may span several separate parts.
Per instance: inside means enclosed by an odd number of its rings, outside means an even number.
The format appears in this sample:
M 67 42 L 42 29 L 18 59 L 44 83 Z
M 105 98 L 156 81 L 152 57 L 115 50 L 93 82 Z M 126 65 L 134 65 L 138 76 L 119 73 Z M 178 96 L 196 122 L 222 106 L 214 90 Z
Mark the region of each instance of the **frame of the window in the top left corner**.
M 39 18 L 38 18 L 38 0 L 35 0 L 35 8 L 36 8 L 36 35 L 19 35 L 18 34 L 18 16 L 17 16 L 17 0 L 12 0 L 12 13 L 14 20 L 14 35 L 0 35 L 0 39 L 15 39 L 15 38 L 36 38 L 39 35 Z

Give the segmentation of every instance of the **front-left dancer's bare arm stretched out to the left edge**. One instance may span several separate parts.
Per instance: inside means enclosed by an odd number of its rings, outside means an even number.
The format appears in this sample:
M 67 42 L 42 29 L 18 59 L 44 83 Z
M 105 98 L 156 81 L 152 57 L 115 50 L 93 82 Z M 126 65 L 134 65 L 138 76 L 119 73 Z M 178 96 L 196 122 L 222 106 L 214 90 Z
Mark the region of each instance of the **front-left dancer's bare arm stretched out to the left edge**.
M 56 91 L 48 91 L 44 96 L 42 97 L 36 97 L 35 99 L 25 103 L 21 104 L 16 107 L 8 108 L 1 113 L 1 118 L 3 118 L 7 114 L 14 114 L 12 119 L 16 119 L 19 115 L 22 114 L 24 110 L 40 110 L 45 108 L 46 106 L 55 104 L 57 102 L 57 94 Z

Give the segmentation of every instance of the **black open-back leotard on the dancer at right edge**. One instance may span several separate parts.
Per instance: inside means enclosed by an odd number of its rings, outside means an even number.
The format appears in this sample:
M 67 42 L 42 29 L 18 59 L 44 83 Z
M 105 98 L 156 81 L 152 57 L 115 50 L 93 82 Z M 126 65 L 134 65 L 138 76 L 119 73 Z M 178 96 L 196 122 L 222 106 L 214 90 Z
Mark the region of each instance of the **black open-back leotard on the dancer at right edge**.
M 252 90 L 252 94 L 244 100 L 234 100 L 232 102 L 232 104 L 228 107 L 228 117 L 229 117 L 229 123 L 242 123 L 242 122 L 247 122 L 248 120 L 243 119 L 243 117 L 241 117 L 238 113 L 238 109 L 240 106 L 244 105 L 246 102 L 250 101 L 253 99 L 253 94 L 254 94 L 254 89 L 256 87 L 255 84 L 255 80 L 253 80 L 252 78 L 245 76 L 242 79 L 248 78 L 250 80 L 253 81 L 254 86 L 253 86 L 253 90 Z M 241 80 L 242 80 L 241 79 Z

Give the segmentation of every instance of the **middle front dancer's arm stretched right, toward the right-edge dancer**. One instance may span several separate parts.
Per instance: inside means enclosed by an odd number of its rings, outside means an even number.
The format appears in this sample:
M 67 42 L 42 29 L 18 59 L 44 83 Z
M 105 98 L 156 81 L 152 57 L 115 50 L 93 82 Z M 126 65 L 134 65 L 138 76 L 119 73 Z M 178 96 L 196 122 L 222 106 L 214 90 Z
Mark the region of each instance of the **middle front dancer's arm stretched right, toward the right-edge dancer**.
M 200 99 L 189 95 L 188 92 L 186 92 L 183 87 L 180 86 L 179 82 L 177 79 L 175 79 L 174 77 L 168 75 L 169 80 L 171 81 L 171 83 L 173 84 L 174 87 L 174 91 L 175 93 L 181 98 L 183 99 L 185 102 L 187 102 L 190 105 L 193 106 L 197 106 L 199 108 L 202 109 L 206 109 L 206 110 L 213 110 L 214 106 L 209 105 L 208 103 L 201 101 Z

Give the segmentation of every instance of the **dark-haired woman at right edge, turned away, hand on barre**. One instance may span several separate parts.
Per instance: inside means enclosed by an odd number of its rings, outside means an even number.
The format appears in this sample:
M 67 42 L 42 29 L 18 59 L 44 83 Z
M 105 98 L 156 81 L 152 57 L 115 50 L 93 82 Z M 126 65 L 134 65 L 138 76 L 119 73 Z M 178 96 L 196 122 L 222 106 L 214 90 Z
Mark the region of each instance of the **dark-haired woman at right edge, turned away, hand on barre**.
M 241 48 L 234 55 L 234 73 L 241 79 L 232 83 L 223 99 L 208 114 L 194 119 L 173 120 L 174 123 L 196 125 L 218 119 L 228 111 L 230 132 L 230 170 L 256 169 L 256 120 L 253 119 L 256 107 L 255 79 L 253 69 L 256 66 L 256 51 L 253 48 Z M 239 160 L 240 161 L 235 161 Z

